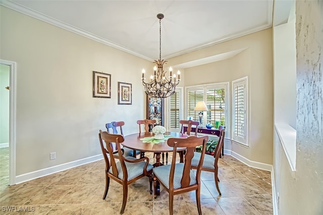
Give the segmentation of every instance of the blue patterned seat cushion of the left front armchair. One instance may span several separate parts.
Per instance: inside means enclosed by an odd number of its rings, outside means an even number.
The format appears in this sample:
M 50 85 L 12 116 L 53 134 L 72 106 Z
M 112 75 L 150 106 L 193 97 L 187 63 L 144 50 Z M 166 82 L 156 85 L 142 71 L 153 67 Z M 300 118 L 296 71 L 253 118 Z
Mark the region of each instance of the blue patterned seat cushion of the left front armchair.
M 137 158 L 128 156 L 128 157 L 126 157 L 126 159 L 136 160 Z M 127 172 L 128 172 L 128 181 L 143 174 L 143 168 L 144 168 L 145 164 L 146 164 L 146 162 L 144 162 L 144 161 L 138 162 L 138 163 L 129 163 L 129 162 L 125 161 L 125 165 L 126 165 Z M 120 162 L 117 162 L 116 166 L 117 166 L 117 170 L 118 170 L 118 178 L 122 179 L 123 178 L 123 171 L 122 171 L 122 167 L 121 167 Z M 150 171 L 152 168 L 153 168 L 153 166 L 151 164 L 148 164 L 147 171 Z M 113 174 L 112 167 L 109 169 L 109 173 Z

